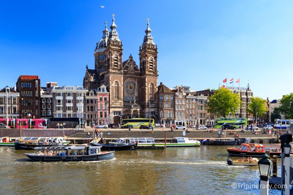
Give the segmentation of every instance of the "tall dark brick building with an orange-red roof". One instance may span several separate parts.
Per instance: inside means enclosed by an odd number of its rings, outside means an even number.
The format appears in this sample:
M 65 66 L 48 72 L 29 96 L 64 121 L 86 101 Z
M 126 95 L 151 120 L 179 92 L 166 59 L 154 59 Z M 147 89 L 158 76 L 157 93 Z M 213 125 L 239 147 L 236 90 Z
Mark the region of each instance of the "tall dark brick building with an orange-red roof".
M 41 118 L 41 80 L 39 76 L 21 75 L 16 83 L 20 93 L 20 117 Z

